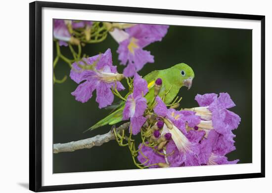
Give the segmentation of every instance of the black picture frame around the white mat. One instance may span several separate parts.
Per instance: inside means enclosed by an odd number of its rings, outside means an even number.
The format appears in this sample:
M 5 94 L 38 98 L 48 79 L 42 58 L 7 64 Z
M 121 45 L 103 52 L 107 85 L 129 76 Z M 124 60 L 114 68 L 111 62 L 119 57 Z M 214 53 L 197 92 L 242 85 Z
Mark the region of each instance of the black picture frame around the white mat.
M 261 21 L 261 172 L 220 176 L 199 176 L 187 178 L 137 180 L 89 184 L 70 184 L 42 186 L 42 8 L 69 8 L 132 13 L 154 13 L 165 15 L 199 16 Z M 229 14 L 216 12 L 184 11 L 140 7 L 106 6 L 78 3 L 35 1 L 29 4 L 29 59 L 30 59 L 30 97 L 29 97 L 29 189 L 34 192 L 92 189 L 151 184 L 170 184 L 242 178 L 265 177 L 265 16 Z

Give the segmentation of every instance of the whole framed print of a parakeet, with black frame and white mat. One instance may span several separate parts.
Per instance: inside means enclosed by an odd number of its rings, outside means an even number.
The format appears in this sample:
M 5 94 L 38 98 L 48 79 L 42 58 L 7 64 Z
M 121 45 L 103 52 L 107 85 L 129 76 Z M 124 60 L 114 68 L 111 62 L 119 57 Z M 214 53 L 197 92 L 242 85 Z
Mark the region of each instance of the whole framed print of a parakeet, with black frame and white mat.
M 30 190 L 265 177 L 265 16 L 30 3 Z

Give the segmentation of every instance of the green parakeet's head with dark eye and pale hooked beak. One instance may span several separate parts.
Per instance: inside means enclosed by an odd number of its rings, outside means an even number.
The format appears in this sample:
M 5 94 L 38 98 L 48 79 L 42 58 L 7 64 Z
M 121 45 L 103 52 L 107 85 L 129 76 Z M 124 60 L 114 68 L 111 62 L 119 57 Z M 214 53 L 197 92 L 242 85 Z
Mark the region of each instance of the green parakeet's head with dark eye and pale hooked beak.
M 178 77 L 177 81 L 190 89 L 194 78 L 194 72 L 191 67 L 185 63 L 180 63 L 173 66 L 172 68 L 175 69 L 175 77 Z

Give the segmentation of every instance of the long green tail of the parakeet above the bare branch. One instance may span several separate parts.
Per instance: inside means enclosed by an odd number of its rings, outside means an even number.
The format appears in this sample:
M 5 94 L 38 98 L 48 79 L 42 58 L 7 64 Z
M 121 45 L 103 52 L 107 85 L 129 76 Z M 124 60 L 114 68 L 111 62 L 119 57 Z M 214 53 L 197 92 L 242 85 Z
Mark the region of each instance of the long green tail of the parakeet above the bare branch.
M 113 112 L 112 114 L 106 116 L 105 118 L 103 118 L 102 120 L 99 120 L 97 123 L 95 123 L 94 125 L 92 125 L 89 129 L 87 129 L 86 131 L 89 130 L 93 130 L 96 129 L 98 127 L 104 126 L 104 125 L 113 125 L 116 124 L 120 121 L 122 121 L 123 118 L 123 108 L 118 109 L 117 111 Z M 86 132 L 84 131 L 84 132 Z

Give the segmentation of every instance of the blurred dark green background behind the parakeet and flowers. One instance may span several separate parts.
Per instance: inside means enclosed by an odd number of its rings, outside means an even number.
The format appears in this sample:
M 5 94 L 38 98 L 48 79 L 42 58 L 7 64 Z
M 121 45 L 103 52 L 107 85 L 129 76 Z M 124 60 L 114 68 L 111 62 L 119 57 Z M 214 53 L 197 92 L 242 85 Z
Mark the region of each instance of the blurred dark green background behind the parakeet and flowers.
M 93 56 L 110 47 L 113 64 L 118 65 L 118 44 L 108 36 L 97 44 L 88 44 L 83 53 Z M 144 48 L 154 55 L 155 63 L 146 64 L 138 73 L 144 76 L 153 70 L 166 69 L 184 62 L 195 73 L 190 90 L 181 88 L 181 107 L 196 107 L 196 94 L 227 92 L 236 107 L 230 109 L 241 117 L 234 130 L 236 150 L 227 154 L 229 160 L 240 159 L 239 163 L 252 162 L 252 31 L 241 29 L 170 26 L 161 42 Z M 69 55 L 69 48 L 61 47 Z M 70 56 L 71 57 L 71 56 Z M 118 71 L 123 71 L 118 65 Z M 59 62 L 55 75 L 61 79 L 69 75 L 70 69 Z M 124 83 L 124 85 L 126 85 Z M 68 79 L 54 85 L 53 142 L 66 143 L 104 134 L 110 126 L 83 133 L 109 111 L 98 109 L 95 92 L 87 103 L 80 103 L 70 94 L 77 83 Z M 101 170 L 136 169 L 129 150 L 110 141 L 100 147 L 60 153 L 53 156 L 53 172 L 84 172 Z

